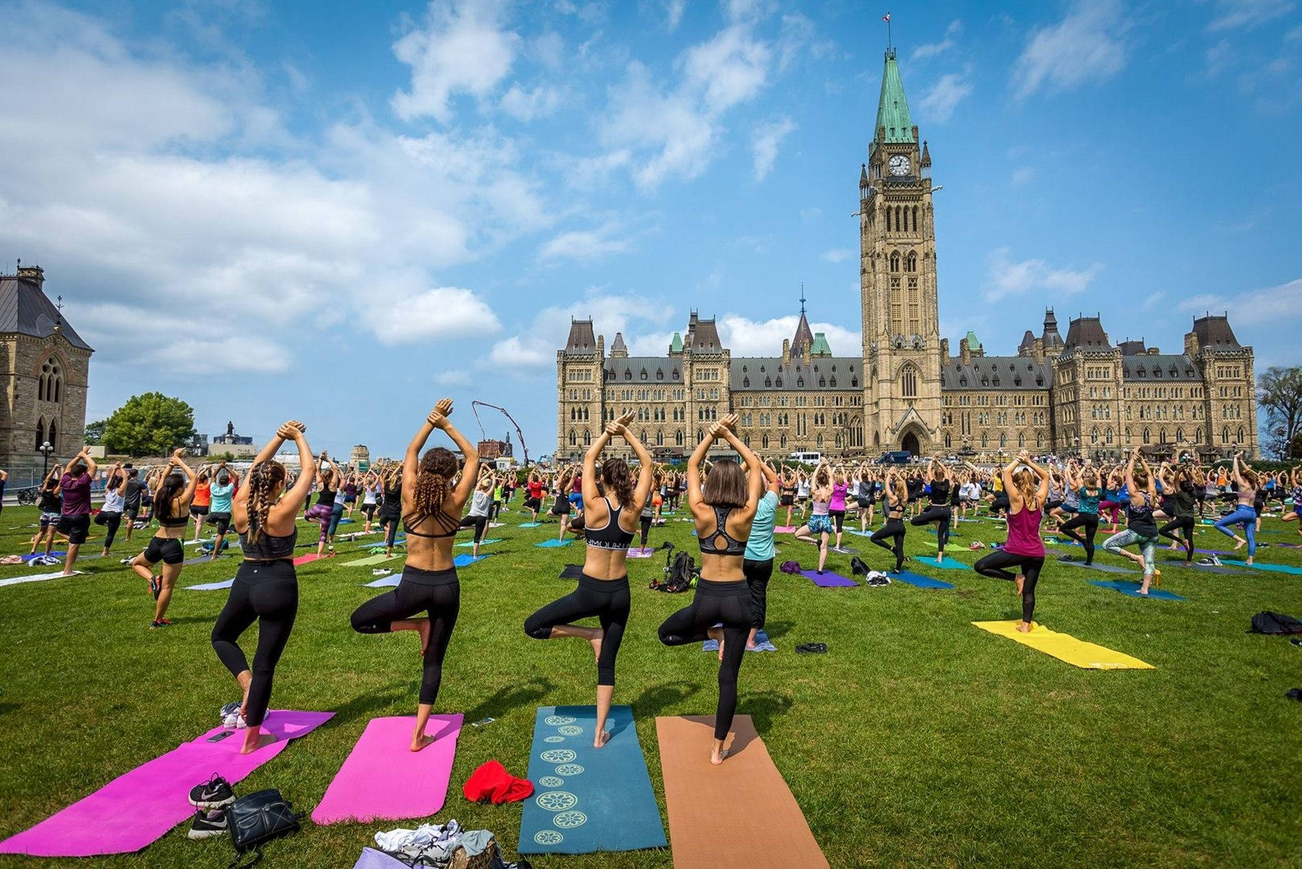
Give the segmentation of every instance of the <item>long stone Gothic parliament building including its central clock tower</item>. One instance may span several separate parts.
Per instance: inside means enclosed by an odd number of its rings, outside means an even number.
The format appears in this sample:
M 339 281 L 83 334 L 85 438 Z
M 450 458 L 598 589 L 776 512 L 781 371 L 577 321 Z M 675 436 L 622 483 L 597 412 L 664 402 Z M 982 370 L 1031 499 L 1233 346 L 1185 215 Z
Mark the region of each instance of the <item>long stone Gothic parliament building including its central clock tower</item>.
M 629 356 L 620 334 L 607 352 L 591 319 L 572 321 L 556 354 L 556 455 L 582 455 L 626 412 L 659 457 L 689 453 L 728 413 L 741 417 L 742 440 L 772 457 L 1258 453 L 1253 348 L 1228 317 L 1194 319 L 1182 352 L 1161 353 L 1113 343 L 1098 317 L 1070 321 L 1062 336 L 1048 310 L 1016 356 L 987 356 L 971 332 L 952 356 L 940 337 L 932 190 L 931 152 L 888 50 L 859 172 L 861 352 L 835 356 L 811 332 L 803 300 L 773 357 L 733 357 L 715 319 L 697 311 L 667 356 Z

